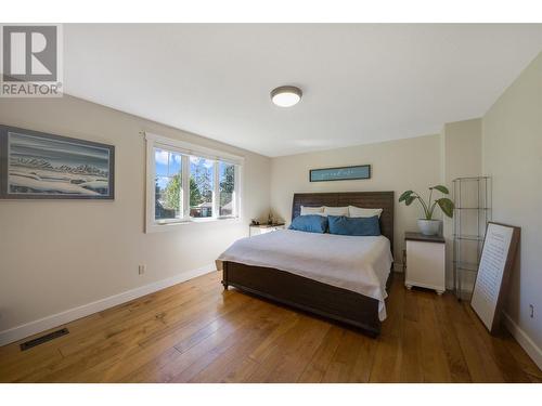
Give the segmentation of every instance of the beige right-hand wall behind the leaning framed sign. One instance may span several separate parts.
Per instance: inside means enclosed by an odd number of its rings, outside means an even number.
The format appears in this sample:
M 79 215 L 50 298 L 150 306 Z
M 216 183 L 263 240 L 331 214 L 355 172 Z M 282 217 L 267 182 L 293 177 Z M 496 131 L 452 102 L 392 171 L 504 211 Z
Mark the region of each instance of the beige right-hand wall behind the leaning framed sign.
M 507 313 L 542 361 L 542 54 L 483 117 L 482 170 L 492 176 L 493 220 L 521 227 Z M 534 305 L 534 317 L 529 316 Z M 540 364 L 539 364 L 540 365 Z

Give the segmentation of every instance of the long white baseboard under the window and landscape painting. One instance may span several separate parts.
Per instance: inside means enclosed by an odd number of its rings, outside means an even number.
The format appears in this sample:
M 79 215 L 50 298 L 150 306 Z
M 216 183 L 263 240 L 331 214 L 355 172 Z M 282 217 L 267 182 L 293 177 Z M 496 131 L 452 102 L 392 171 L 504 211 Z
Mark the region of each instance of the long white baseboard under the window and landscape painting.
M 172 276 L 167 279 L 162 279 L 149 285 L 141 286 L 136 289 L 127 290 L 108 298 L 96 300 L 78 307 L 69 309 L 61 313 L 53 314 L 17 327 L 10 328 L 9 330 L 0 331 L 0 345 L 5 345 L 14 341 L 24 339 L 25 337 L 34 336 L 38 332 L 49 330 L 53 327 L 76 320 L 78 318 L 88 316 L 90 314 L 101 312 L 105 309 L 116 306 L 117 304 L 129 302 L 130 300 L 141 298 L 142 296 L 153 293 L 155 291 L 168 288 L 170 286 L 186 281 L 216 271 L 215 264 L 208 264 L 197 270 L 183 272 L 182 274 Z

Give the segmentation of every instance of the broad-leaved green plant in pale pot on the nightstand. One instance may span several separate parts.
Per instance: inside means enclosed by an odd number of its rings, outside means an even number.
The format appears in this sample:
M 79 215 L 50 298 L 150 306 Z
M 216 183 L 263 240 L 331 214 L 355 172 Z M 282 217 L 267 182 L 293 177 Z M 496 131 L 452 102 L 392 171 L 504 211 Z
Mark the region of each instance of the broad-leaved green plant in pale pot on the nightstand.
M 406 191 L 401 195 L 401 197 L 399 197 L 399 201 L 404 201 L 406 206 L 412 205 L 412 202 L 416 199 L 420 201 L 420 205 L 422 205 L 425 219 L 420 219 L 417 221 L 417 226 L 420 228 L 420 232 L 424 235 L 435 235 L 438 234 L 440 230 L 440 220 L 433 219 L 433 214 L 435 213 L 435 208 L 437 206 L 440 207 L 440 210 L 442 210 L 442 212 L 450 219 L 453 217 L 453 201 L 448 197 L 441 197 L 433 201 L 433 191 L 438 191 L 443 195 L 448 195 L 450 193 L 448 191 L 448 187 L 437 185 L 429 187 L 429 199 L 427 202 L 422 198 L 422 196 L 420 196 L 420 194 L 414 191 Z

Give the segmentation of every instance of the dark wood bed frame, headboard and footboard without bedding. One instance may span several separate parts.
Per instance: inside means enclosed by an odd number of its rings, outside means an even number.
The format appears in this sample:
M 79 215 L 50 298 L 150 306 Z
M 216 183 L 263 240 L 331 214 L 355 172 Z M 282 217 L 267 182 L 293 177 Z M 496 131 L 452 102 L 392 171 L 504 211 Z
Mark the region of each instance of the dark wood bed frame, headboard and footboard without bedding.
M 393 192 L 296 193 L 292 219 L 301 206 L 382 208 L 380 233 L 393 247 Z M 391 274 L 390 274 L 391 275 Z M 391 278 L 388 278 L 388 283 Z M 360 328 L 372 337 L 380 332 L 378 301 L 271 267 L 223 263 L 224 289 L 233 286 L 256 296 Z

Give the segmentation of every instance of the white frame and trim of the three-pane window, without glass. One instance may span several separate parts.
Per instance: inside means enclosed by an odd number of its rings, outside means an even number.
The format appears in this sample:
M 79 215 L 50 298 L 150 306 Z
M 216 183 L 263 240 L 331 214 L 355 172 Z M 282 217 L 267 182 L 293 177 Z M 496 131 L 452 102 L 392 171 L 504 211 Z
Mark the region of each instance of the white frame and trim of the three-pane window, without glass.
M 145 132 L 146 142 L 146 204 L 145 204 L 145 233 L 164 232 L 177 228 L 179 225 L 207 222 L 240 221 L 242 214 L 243 167 L 244 158 L 238 155 L 224 153 L 180 140 Z M 155 219 L 155 154 L 154 148 L 182 155 L 182 218 L 165 219 L 157 222 Z M 190 217 L 190 156 L 197 156 L 214 161 L 214 189 L 212 189 L 212 217 Z M 233 215 L 220 217 L 219 213 L 219 171 L 218 162 L 223 161 L 235 165 L 235 189 L 233 196 Z M 188 193 L 185 192 L 188 191 Z

